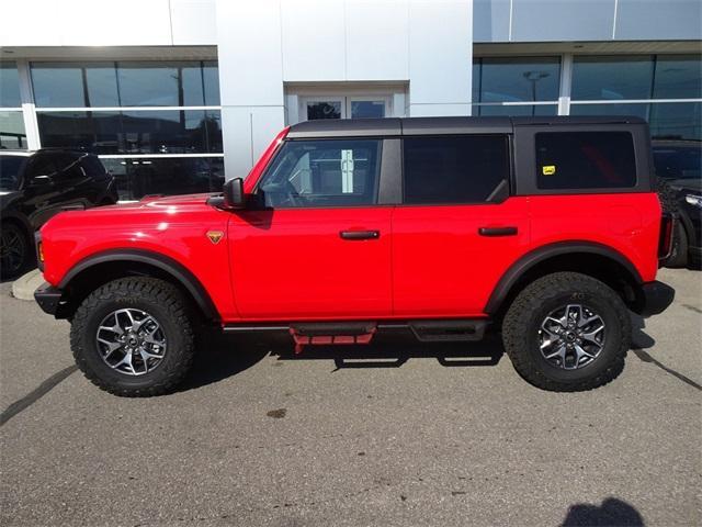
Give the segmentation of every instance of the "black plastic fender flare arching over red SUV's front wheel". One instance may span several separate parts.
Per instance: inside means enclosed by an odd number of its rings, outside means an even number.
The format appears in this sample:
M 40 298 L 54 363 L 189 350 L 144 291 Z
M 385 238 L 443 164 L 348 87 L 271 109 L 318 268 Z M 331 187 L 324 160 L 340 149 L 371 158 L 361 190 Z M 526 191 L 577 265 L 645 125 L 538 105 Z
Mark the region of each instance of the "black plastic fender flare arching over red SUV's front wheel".
M 168 272 L 179 283 L 188 290 L 193 296 L 197 306 L 202 310 L 206 318 L 212 321 L 219 319 L 219 313 L 215 307 L 210 294 L 200 281 L 181 264 L 174 259 L 151 253 L 144 249 L 113 249 L 97 255 L 89 256 L 73 266 L 58 284 L 58 289 L 65 290 L 69 287 L 71 280 L 82 271 L 105 262 L 111 261 L 137 261 L 139 264 L 148 264 Z

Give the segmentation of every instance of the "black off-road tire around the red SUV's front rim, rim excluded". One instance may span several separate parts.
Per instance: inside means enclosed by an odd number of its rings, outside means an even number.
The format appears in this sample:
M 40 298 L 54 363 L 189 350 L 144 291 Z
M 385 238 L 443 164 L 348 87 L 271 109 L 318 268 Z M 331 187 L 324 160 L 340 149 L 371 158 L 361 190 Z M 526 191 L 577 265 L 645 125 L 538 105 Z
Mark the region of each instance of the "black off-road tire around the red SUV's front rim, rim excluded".
M 138 377 L 111 369 L 100 357 L 98 326 L 120 309 L 143 310 L 161 325 L 168 347 L 158 368 Z M 129 277 L 109 282 L 83 300 L 72 319 L 70 344 L 76 363 L 93 384 L 114 395 L 147 397 L 172 391 L 188 374 L 194 356 L 193 314 L 181 291 L 154 278 Z

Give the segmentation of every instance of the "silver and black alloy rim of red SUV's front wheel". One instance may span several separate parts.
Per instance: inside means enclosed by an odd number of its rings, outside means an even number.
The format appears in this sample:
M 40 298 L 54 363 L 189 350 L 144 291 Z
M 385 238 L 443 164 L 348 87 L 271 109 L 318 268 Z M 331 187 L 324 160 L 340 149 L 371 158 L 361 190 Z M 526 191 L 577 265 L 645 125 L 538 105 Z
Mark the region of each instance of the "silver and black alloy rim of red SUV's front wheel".
M 144 375 L 166 356 L 166 334 L 154 315 L 135 309 L 116 310 L 105 316 L 95 335 L 105 365 L 126 375 Z

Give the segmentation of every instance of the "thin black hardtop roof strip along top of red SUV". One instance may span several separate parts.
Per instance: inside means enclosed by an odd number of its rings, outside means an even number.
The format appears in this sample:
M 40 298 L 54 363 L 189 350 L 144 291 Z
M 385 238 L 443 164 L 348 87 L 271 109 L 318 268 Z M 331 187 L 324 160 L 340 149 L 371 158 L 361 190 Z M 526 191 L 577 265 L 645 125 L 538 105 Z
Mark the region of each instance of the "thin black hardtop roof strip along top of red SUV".
M 543 117 L 387 117 L 329 119 L 305 121 L 290 127 L 291 139 L 315 137 L 370 137 L 440 134 L 509 134 L 514 126 L 578 124 L 645 124 L 634 116 L 543 116 Z

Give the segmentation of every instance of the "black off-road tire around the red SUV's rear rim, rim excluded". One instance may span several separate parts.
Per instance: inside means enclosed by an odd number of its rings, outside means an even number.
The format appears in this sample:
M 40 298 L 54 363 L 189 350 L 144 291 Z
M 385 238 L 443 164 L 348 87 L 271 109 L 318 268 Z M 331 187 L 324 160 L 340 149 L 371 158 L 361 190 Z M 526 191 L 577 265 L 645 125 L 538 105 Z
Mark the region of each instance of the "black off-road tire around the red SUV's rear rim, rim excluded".
M 571 302 L 595 307 L 608 333 L 592 362 L 565 370 L 541 355 L 539 330 L 548 313 Z M 619 294 L 578 272 L 556 272 L 535 280 L 514 299 L 502 322 L 502 343 L 517 372 L 534 386 L 555 392 L 591 390 L 615 379 L 624 368 L 631 334 L 630 313 Z

